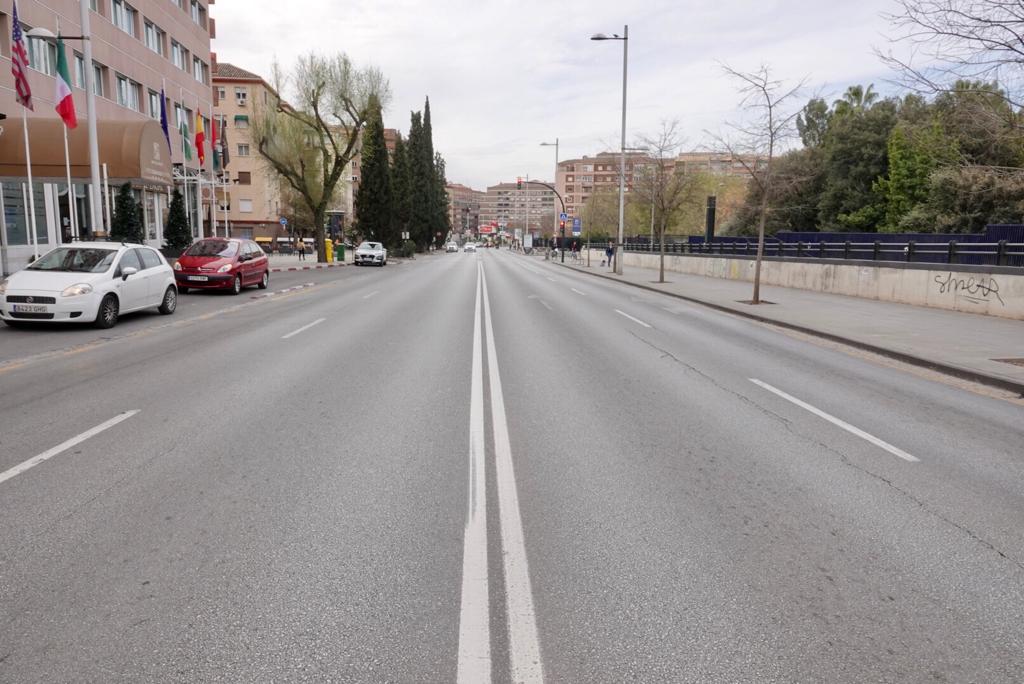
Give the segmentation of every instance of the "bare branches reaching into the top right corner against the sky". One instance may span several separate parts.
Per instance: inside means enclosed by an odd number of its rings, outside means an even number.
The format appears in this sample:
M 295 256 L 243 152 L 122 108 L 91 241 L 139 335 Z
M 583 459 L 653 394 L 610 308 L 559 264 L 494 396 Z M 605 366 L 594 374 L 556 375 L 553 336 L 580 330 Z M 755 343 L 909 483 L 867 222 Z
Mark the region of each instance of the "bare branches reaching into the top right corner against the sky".
M 910 55 L 877 50 L 901 82 L 923 94 L 951 89 L 956 81 L 992 81 L 1015 108 L 1024 102 L 1024 3 L 1019 0 L 896 0 L 883 16 L 897 31 L 893 43 Z M 922 60 L 924 59 L 924 63 Z

